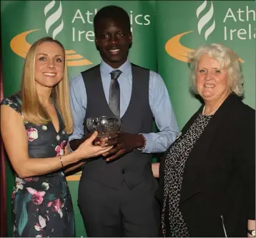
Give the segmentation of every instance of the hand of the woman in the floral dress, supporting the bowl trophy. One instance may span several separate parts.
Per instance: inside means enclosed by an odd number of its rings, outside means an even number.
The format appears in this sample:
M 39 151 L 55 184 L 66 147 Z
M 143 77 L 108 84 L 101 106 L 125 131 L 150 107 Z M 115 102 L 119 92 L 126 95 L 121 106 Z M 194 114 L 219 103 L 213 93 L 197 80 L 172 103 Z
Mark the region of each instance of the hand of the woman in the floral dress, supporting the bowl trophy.
M 84 141 L 79 148 L 75 150 L 78 157 L 81 159 L 89 158 L 89 157 L 96 157 L 98 155 L 102 155 L 102 153 L 107 152 L 112 149 L 113 146 L 103 147 L 100 145 L 93 145 L 94 140 L 97 138 L 97 131 L 95 131 L 90 138 Z

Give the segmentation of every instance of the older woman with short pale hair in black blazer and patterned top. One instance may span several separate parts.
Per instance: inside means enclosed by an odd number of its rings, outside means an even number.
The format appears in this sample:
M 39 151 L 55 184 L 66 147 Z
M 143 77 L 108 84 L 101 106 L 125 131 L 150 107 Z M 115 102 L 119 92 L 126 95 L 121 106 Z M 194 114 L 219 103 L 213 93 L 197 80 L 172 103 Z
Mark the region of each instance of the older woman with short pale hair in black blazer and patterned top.
M 191 58 L 204 101 L 160 163 L 164 237 L 255 236 L 255 110 L 242 103 L 237 54 L 220 44 Z

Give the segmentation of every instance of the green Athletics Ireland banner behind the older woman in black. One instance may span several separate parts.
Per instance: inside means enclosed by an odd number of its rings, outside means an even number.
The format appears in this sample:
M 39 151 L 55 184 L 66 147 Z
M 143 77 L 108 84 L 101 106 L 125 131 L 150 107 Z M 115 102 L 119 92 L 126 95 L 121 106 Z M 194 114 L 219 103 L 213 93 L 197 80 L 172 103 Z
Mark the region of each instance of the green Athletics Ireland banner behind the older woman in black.
M 157 65 L 182 128 L 200 101 L 189 93 L 187 53 L 222 43 L 238 53 L 244 102 L 255 108 L 255 1 L 157 1 Z

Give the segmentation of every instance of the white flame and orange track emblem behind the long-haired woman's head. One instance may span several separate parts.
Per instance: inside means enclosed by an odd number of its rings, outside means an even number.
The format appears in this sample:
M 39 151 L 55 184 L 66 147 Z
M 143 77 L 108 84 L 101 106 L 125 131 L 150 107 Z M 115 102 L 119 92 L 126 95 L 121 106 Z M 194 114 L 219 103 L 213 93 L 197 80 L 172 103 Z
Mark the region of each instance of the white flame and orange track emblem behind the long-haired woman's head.
M 59 6 L 54 10 L 56 1 L 50 1 L 49 4 L 46 4 L 44 7 L 44 16 L 45 16 L 45 31 L 48 35 L 51 35 L 52 38 L 56 39 L 56 36 L 64 29 L 64 20 L 62 18 L 62 5 L 59 1 Z M 60 24 L 57 24 L 60 22 Z M 57 24 L 57 26 L 56 26 Z M 41 29 L 32 29 L 29 31 L 24 31 L 14 36 L 11 39 L 10 47 L 18 56 L 22 58 L 26 57 L 26 53 L 29 51 L 31 44 L 26 41 L 26 38 L 29 34 L 41 31 Z M 51 34 L 50 34 L 51 33 Z M 66 50 L 67 66 L 87 66 L 92 64 L 87 58 L 80 55 L 76 51 L 69 49 Z

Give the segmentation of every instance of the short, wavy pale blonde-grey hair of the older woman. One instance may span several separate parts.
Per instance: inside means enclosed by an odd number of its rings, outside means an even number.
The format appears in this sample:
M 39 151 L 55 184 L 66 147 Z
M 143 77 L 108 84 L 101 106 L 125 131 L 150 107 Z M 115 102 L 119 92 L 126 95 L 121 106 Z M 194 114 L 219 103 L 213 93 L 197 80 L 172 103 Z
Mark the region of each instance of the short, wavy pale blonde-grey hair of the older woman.
M 221 68 L 225 67 L 229 75 L 230 91 L 242 96 L 244 93 L 243 76 L 241 71 L 241 66 L 239 58 L 235 51 L 231 48 L 222 46 L 220 43 L 212 43 L 210 46 L 199 46 L 189 53 L 189 63 L 190 63 L 190 87 L 195 92 L 197 92 L 197 64 L 203 54 L 207 53 L 211 58 L 214 58 L 220 63 Z

